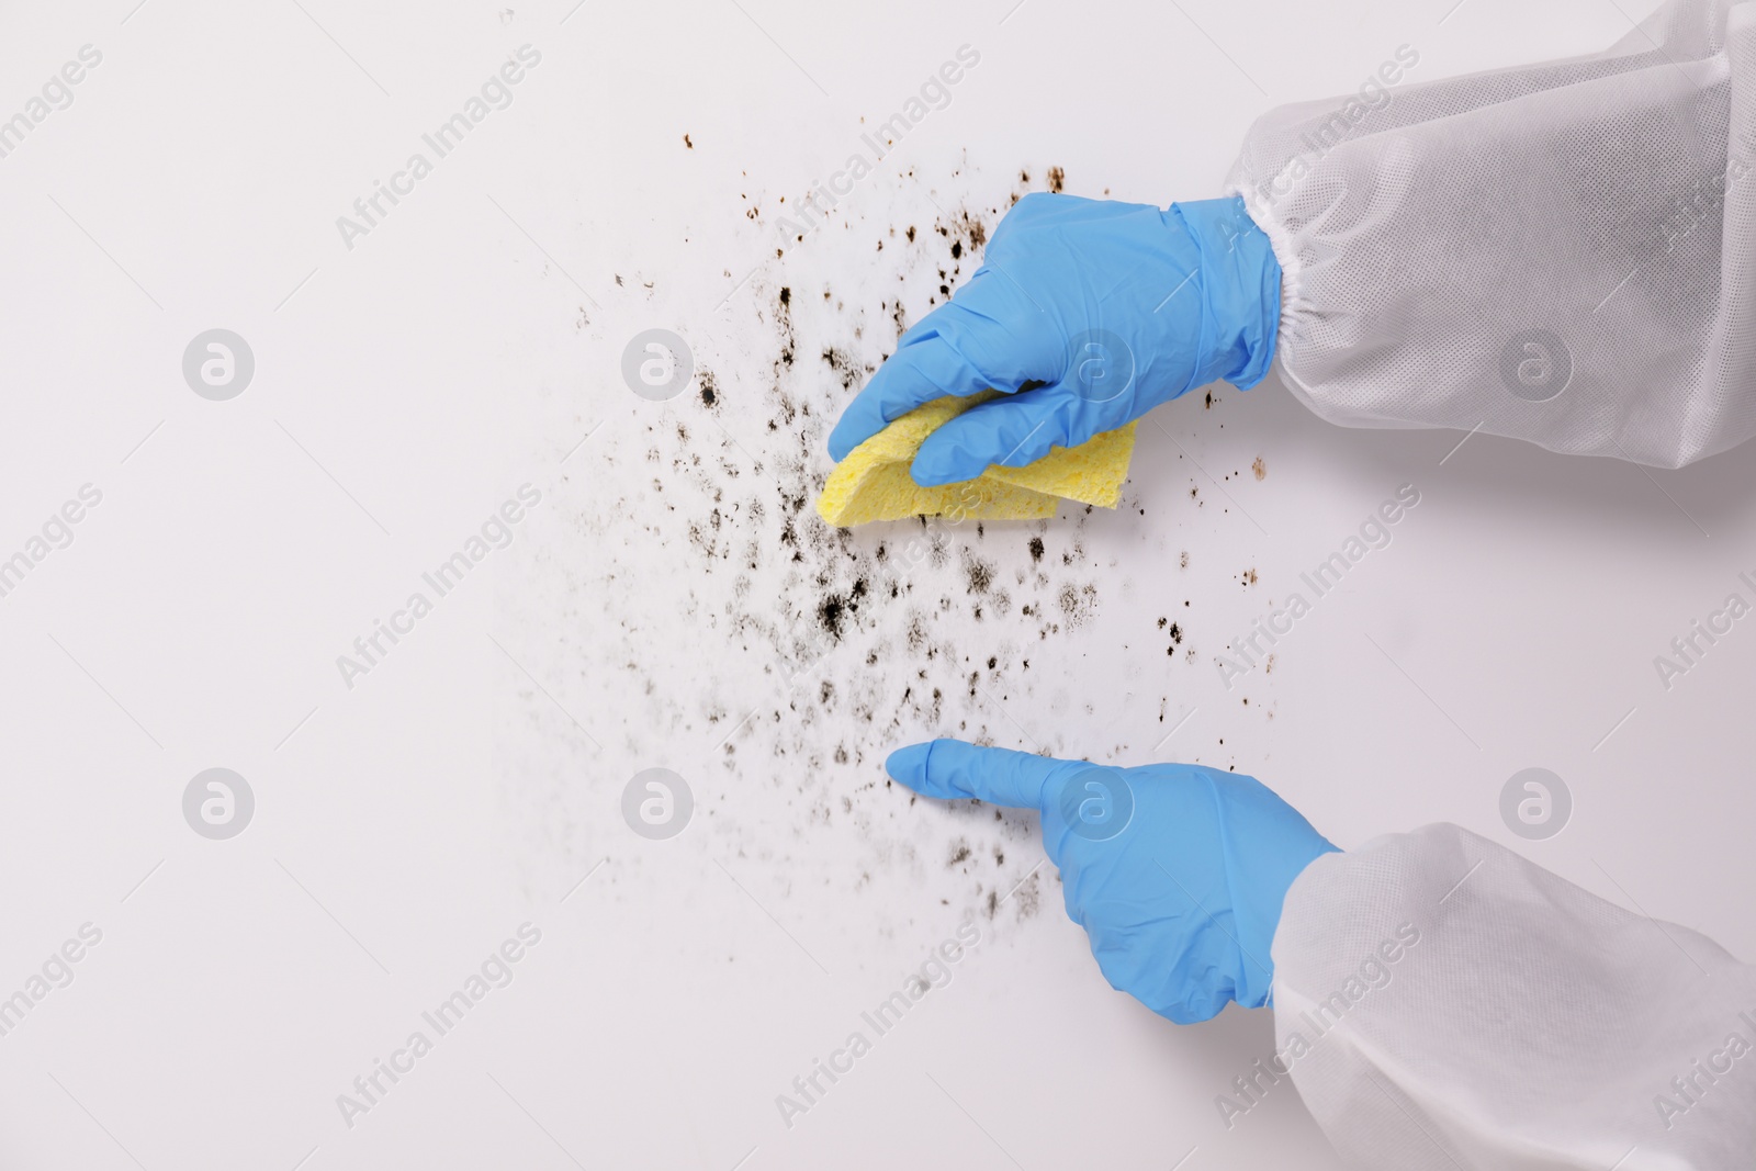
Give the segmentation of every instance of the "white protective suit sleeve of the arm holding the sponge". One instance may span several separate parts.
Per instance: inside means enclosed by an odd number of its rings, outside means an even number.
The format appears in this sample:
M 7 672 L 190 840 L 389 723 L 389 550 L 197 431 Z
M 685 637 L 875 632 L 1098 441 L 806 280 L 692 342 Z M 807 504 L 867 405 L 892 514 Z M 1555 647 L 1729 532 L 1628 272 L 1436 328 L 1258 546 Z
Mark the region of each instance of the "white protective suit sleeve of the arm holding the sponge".
M 1756 434 L 1756 4 L 1596 56 L 1257 119 L 1227 179 L 1284 269 L 1277 369 L 1352 427 L 1680 467 Z

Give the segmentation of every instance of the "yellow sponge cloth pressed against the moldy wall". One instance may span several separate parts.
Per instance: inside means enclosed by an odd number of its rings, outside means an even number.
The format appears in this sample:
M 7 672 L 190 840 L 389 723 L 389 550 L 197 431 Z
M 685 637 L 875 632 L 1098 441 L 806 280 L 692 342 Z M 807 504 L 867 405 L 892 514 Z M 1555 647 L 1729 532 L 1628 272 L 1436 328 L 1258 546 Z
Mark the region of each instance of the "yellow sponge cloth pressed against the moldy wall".
M 922 441 L 999 392 L 934 399 L 894 420 L 857 446 L 829 474 L 817 513 L 831 525 L 866 525 L 906 516 L 959 520 L 1036 520 L 1054 516 L 1061 499 L 1115 507 L 1134 455 L 1134 423 L 1076 448 L 1054 448 L 1026 467 L 990 467 L 976 479 L 922 488 L 908 474 Z

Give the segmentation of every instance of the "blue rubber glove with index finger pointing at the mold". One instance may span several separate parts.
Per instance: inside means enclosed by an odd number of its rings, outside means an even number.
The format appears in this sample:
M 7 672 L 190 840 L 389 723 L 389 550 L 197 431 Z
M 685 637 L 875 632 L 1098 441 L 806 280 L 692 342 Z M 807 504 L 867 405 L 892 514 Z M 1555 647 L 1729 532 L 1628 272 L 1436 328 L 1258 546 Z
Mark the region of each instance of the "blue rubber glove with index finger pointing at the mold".
M 1068 915 L 1112 988 L 1180 1025 L 1268 1002 L 1292 880 L 1335 850 L 1261 781 L 1189 764 L 1115 769 L 962 741 L 890 753 L 925 797 L 1038 809 Z

